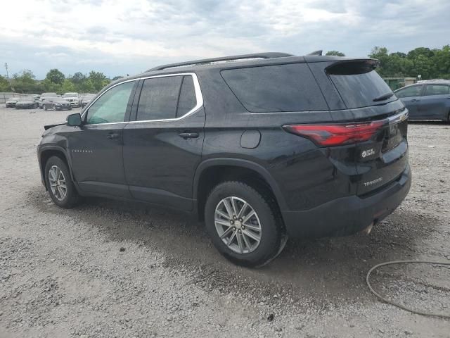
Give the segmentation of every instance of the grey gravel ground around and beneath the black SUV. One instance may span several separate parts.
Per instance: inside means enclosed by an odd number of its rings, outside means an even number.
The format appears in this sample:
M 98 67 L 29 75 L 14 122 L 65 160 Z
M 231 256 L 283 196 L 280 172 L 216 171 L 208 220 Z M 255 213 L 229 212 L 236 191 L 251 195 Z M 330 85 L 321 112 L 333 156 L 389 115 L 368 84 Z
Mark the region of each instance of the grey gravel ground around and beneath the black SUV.
M 221 258 L 186 215 L 42 187 L 35 144 L 67 112 L 0 108 L 0 337 L 450 337 L 450 320 L 381 303 L 371 266 L 450 262 L 450 126 L 411 123 L 413 186 L 370 235 L 290 240 L 265 268 Z M 450 314 L 450 269 L 386 267 L 373 286 Z

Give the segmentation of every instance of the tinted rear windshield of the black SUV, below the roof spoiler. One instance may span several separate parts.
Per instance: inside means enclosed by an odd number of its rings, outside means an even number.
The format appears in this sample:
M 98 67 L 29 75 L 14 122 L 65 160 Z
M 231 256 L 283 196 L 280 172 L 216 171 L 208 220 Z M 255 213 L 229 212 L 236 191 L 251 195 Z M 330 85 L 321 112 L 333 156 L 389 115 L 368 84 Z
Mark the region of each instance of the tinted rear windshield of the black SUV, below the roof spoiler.
M 347 108 L 359 108 L 373 106 L 375 104 L 385 104 L 386 102 L 397 99 L 395 95 L 383 101 L 373 101 L 378 96 L 392 93 L 386 82 L 375 72 L 371 70 L 368 73 L 333 75 L 331 80 L 338 89 L 342 100 Z

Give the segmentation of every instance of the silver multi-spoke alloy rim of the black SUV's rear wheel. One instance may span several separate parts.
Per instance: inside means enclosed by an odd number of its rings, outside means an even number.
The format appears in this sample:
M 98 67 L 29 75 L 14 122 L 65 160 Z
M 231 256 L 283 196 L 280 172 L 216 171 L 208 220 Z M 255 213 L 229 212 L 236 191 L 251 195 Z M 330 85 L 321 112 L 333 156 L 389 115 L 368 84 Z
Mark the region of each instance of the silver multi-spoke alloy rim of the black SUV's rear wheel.
M 261 222 L 247 201 L 230 196 L 219 201 L 214 213 L 217 234 L 236 253 L 255 251 L 261 242 Z

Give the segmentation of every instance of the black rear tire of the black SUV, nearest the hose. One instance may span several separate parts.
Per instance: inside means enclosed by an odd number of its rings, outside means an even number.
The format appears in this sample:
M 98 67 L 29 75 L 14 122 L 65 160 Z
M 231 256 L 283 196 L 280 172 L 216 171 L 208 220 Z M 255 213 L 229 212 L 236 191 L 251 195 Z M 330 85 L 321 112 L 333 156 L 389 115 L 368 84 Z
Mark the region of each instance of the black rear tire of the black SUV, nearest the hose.
M 246 211 L 242 213 L 244 217 L 240 218 L 243 222 L 238 222 L 238 219 L 233 220 L 233 224 L 236 226 L 228 225 L 228 222 L 231 224 L 232 220 L 224 202 L 229 201 L 229 206 L 231 206 L 231 197 L 238 213 L 245 203 L 248 204 Z M 250 215 L 251 210 L 255 212 L 255 215 L 245 220 L 245 214 Z M 221 215 L 218 215 L 217 211 Z M 233 211 L 232 206 L 231 211 Z M 215 222 L 217 217 L 221 223 Z M 224 225 L 224 223 L 226 224 Z M 274 198 L 271 197 L 271 194 L 264 192 L 264 189 L 255 189 L 244 182 L 222 182 L 212 189 L 205 204 L 205 225 L 212 244 L 221 255 L 237 265 L 250 268 L 261 267 L 272 261 L 281 253 L 287 241 L 281 213 Z M 260 230 L 253 231 L 250 226 L 254 229 L 259 227 Z M 224 239 L 221 239 L 219 232 Z M 249 232 L 252 236 L 245 235 Z M 233 239 L 229 245 L 231 237 Z M 238 237 L 240 237 L 240 241 L 238 241 Z M 259 237 L 259 242 L 254 237 Z

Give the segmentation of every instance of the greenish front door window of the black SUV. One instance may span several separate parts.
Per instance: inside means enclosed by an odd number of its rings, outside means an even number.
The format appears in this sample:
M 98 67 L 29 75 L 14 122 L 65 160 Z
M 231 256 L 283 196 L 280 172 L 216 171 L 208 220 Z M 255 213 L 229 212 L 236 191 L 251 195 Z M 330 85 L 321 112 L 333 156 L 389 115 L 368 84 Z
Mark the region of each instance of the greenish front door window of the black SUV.
M 100 98 L 89 107 L 87 111 L 86 124 L 94 125 L 97 123 L 123 122 L 125 112 L 127 111 L 129 96 L 135 82 L 124 82 L 119 84 L 108 92 L 105 92 Z

